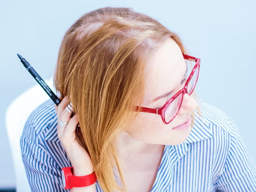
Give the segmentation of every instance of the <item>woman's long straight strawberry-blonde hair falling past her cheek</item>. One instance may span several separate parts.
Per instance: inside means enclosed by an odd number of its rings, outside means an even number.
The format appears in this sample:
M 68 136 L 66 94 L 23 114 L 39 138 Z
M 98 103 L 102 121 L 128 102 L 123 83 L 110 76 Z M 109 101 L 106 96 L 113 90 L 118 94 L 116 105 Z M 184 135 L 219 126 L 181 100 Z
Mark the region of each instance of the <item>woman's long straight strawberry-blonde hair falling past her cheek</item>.
M 175 32 L 126 7 L 87 12 L 63 36 L 54 73 L 55 89 L 60 100 L 68 95 L 74 105 L 86 150 L 105 192 L 127 191 L 116 139 L 139 114 L 131 111 L 134 103 L 141 106 L 144 100 L 144 67 L 167 38 L 189 54 Z M 195 92 L 192 96 L 197 97 Z M 194 117 L 192 112 L 192 127 Z M 118 169 L 121 187 L 113 166 Z

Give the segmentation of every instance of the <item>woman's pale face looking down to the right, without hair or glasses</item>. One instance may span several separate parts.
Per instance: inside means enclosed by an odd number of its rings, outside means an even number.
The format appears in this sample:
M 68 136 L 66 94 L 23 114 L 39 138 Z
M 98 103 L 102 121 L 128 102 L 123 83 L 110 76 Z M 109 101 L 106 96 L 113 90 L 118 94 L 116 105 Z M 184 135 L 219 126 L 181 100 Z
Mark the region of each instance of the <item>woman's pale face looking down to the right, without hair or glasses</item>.
M 143 107 L 161 108 L 176 92 L 183 88 L 181 84 L 186 72 L 187 64 L 183 58 L 180 47 L 171 38 L 152 55 L 150 63 L 145 69 L 146 87 Z M 156 97 L 174 90 L 170 95 L 152 102 Z M 175 130 L 173 127 L 186 122 L 191 111 L 197 107 L 196 100 L 187 93 L 177 116 L 169 124 L 164 124 L 161 116 L 152 113 L 140 112 L 130 127 L 129 135 L 145 143 L 161 145 L 178 145 L 185 141 L 191 131 Z

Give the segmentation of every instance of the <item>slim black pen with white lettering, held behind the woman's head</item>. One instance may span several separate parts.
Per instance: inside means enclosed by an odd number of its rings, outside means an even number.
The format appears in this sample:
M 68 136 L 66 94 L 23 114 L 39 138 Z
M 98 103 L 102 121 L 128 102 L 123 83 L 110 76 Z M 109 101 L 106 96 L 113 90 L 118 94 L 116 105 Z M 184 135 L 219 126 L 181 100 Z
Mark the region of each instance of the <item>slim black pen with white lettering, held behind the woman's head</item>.
M 17 53 L 20 61 L 23 63 L 24 67 L 28 70 L 28 72 L 36 79 L 36 81 L 41 85 L 44 91 L 50 96 L 53 102 L 58 106 L 60 103 L 60 99 L 52 92 L 52 90 L 48 87 L 48 85 L 44 82 L 44 80 L 38 75 L 36 70 L 25 60 L 25 58 L 21 57 L 19 53 Z

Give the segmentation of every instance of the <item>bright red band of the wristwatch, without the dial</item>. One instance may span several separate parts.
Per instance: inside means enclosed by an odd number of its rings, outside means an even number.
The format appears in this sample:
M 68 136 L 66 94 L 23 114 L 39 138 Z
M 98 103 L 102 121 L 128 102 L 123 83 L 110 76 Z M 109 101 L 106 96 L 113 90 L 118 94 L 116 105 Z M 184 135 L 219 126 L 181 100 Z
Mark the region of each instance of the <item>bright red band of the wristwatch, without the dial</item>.
M 71 167 L 71 172 L 73 174 L 73 167 Z M 97 177 L 95 172 L 91 173 L 90 175 L 85 176 L 69 176 L 68 177 L 69 183 L 73 187 L 86 187 L 92 185 L 97 181 Z

